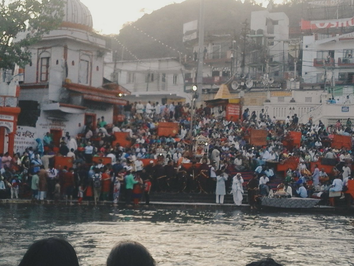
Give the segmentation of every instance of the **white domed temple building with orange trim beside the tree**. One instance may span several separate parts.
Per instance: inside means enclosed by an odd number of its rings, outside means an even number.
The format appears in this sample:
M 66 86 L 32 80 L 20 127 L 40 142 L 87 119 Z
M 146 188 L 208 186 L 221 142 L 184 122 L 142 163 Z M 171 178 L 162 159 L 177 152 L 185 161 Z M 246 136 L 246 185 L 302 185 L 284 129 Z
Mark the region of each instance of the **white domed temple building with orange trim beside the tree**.
M 92 17 L 79 0 L 64 0 L 61 26 L 30 48 L 32 62 L 25 67 L 21 84 L 15 151 L 36 146 L 46 132 L 54 142 L 65 132 L 75 136 L 84 125 L 105 117 L 113 122 L 113 110 L 125 104 L 118 84 L 103 85 L 104 39 L 92 31 Z

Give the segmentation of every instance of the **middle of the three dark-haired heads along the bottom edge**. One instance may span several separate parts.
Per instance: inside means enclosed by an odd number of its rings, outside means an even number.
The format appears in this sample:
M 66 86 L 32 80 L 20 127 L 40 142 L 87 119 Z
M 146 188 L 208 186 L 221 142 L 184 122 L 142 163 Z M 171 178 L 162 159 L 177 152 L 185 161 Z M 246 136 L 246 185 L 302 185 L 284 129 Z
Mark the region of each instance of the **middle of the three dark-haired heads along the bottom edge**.
M 135 241 L 121 241 L 109 253 L 107 266 L 155 266 L 149 251 Z

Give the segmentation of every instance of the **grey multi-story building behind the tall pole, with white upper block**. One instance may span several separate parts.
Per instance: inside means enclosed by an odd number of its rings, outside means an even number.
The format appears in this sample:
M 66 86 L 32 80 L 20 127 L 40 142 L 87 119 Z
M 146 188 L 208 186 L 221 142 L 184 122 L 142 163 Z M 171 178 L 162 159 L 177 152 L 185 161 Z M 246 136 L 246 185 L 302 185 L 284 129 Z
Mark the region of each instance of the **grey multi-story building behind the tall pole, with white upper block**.
M 193 49 L 193 57 L 184 64 L 187 86 L 196 82 L 199 52 L 197 34 L 188 36 L 192 38 L 184 43 L 187 48 Z M 239 83 L 242 76 L 252 78 L 252 89 L 264 87 L 262 74 L 269 74 L 268 78 L 281 81 L 271 87 L 282 87 L 282 73 L 289 70 L 289 42 L 283 40 L 289 41 L 289 18 L 283 12 L 271 13 L 267 10 L 251 12 L 250 25 L 245 22 L 240 34 L 236 34 L 235 28 L 206 31 L 202 47 L 203 93 L 216 93 L 219 85 L 234 74 Z

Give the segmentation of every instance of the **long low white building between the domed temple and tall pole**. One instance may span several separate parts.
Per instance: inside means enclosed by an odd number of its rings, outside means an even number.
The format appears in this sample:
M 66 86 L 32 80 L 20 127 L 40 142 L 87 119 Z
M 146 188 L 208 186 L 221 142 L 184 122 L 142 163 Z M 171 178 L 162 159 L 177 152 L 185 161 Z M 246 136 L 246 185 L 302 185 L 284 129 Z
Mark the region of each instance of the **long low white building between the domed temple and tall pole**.
M 184 72 L 184 66 L 175 58 L 117 62 L 108 59 L 104 67 L 106 79 L 116 79 L 118 84 L 131 92 L 124 99 L 142 100 L 144 103 L 189 102 L 189 94 L 184 87 Z

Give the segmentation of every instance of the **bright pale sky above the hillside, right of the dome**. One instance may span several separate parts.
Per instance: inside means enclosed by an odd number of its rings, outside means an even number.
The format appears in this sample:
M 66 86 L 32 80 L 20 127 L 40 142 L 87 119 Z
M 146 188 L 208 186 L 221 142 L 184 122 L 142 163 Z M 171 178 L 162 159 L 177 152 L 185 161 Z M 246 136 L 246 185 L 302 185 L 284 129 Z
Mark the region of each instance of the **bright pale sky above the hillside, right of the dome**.
M 118 34 L 123 24 L 134 22 L 144 13 L 150 14 L 161 7 L 185 0 L 80 0 L 91 11 L 93 28 L 102 34 Z M 217 0 L 215 0 L 217 1 Z M 244 0 L 241 0 L 242 2 Z M 258 0 L 263 6 L 268 0 Z M 276 0 L 279 2 L 281 0 Z

